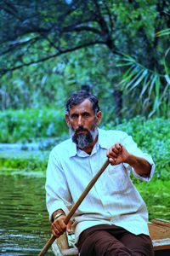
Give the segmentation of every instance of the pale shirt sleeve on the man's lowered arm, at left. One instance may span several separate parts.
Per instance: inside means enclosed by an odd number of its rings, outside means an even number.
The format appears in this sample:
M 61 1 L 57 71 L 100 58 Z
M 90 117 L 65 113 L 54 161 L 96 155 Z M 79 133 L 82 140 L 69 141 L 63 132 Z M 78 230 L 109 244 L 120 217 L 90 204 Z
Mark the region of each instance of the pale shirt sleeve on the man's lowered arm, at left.
M 45 189 L 49 218 L 51 219 L 53 212 L 58 209 L 62 209 L 67 214 L 71 208 L 71 195 L 65 172 L 55 150 L 49 155 Z

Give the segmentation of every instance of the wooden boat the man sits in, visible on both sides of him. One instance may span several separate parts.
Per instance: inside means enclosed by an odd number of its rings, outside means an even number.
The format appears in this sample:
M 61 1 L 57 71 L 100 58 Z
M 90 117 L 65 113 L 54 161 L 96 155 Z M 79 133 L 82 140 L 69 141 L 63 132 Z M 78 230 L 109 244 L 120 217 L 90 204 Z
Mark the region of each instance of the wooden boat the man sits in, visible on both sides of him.
M 170 255 L 170 222 L 155 218 L 149 224 L 150 237 L 153 242 L 155 256 Z M 70 240 L 70 241 L 69 241 Z M 54 241 L 52 246 L 55 256 L 78 256 L 77 247 L 74 246 L 74 238 L 70 239 L 66 234 Z

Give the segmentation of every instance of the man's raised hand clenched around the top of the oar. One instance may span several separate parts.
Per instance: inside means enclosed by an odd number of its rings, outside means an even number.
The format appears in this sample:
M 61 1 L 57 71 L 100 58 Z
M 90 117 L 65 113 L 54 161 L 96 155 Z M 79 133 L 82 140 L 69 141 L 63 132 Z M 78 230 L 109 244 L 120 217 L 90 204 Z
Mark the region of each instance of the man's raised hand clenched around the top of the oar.
M 116 166 L 123 162 L 126 163 L 129 158 L 129 154 L 127 149 L 124 148 L 121 143 L 116 143 L 114 146 L 108 149 L 107 157 L 111 163 L 111 166 Z

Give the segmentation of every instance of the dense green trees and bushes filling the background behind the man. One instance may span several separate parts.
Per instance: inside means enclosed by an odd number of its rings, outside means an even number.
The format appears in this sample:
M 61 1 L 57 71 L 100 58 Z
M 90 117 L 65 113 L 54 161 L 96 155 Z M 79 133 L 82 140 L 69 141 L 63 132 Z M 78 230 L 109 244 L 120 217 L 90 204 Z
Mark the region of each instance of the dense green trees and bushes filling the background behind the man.
M 0 143 L 25 149 L 0 152 L 1 171 L 44 172 L 49 149 L 68 137 L 65 100 L 88 84 L 101 126 L 127 131 L 156 162 L 147 191 L 135 181 L 145 201 L 167 195 L 170 2 L 0 0 L 0 8 Z

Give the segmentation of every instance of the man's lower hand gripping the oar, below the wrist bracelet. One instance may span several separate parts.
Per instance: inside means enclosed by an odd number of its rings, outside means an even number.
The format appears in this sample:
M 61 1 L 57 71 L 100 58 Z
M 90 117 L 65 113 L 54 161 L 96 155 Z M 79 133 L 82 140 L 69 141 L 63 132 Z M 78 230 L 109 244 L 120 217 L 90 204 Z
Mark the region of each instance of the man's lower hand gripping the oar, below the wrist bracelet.
M 52 234 L 59 238 L 59 236 L 63 235 L 63 233 L 67 230 L 68 233 L 71 233 L 71 220 L 67 225 L 64 223 L 65 215 L 60 215 L 59 218 L 56 218 L 54 222 L 51 224 Z

